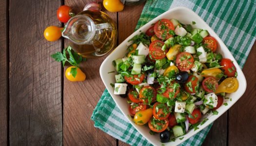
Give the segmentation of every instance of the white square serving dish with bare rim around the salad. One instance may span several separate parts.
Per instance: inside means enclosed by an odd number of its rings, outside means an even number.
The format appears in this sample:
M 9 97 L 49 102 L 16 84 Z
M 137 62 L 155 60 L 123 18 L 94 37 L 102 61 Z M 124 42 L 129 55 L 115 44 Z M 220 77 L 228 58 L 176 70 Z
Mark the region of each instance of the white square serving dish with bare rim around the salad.
M 230 51 L 228 50 L 228 48 L 225 46 L 225 44 L 222 42 L 222 40 L 217 36 L 217 34 L 208 26 L 208 24 L 206 24 L 206 22 L 204 22 L 203 19 L 201 19 L 195 12 L 193 12 L 192 10 L 186 8 L 186 7 L 176 7 L 173 8 L 161 15 L 159 15 L 157 18 L 154 18 L 153 20 L 151 20 L 150 22 L 148 22 L 147 24 L 145 24 L 143 27 L 141 27 L 140 29 L 138 29 L 136 32 L 134 32 L 131 36 L 127 37 L 101 64 L 99 72 L 100 72 L 100 76 L 101 79 L 104 83 L 104 85 L 106 86 L 107 90 L 109 91 L 110 95 L 112 96 L 112 98 L 114 99 L 114 101 L 116 102 L 118 108 L 122 111 L 122 113 L 124 114 L 124 116 L 128 119 L 128 121 L 130 121 L 130 123 L 134 126 L 134 128 L 136 128 L 138 130 L 138 132 L 144 136 L 151 144 L 155 145 L 155 146 L 161 146 L 161 142 L 159 139 L 159 134 L 156 135 L 150 135 L 149 131 L 150 129 L 146 126 L 138 126 L 136 125 L 132 120 L 129 119 L 129 117 L 127 116 L 129 114 L 129 110 L 128 110 L 128 103 L 127 103 L 127 99 L 125 98 L 121 98 L 119 95 L 115 95 L 114 94 L 114 89 L 113 87 L 110 85 L 110 83 L 115 83 L 115 74 L 116 73 L 108 73 L 111 71 L 115 71 L 115 68 L 112 64 L 112 61 L 118 58 L 122 58 L 125 56 L 126 54 L 126 49 L 127 49 L 127 42 L 129 39 L 131 39 L 132 37 L 134 37 L 135 35 L 140 34 L 141 32 L 146 32 L 146 30 L 151 27 L 151 25 L 153 23 L 156 23 L 159 19 L 162 18 L 167 18 L 167 19 L 171 19 L 171 18 L 175 18 L 177 20 L 179 20 L 180 22 L 184 23 L 184 24 L 192 24 L 192 21 L 195 21 L 196 24 L 193 25 L 194 28 L 202 28 L 205 30 L 208 30 L 209 34 L 213 37 L 215 37 L 217 39 L 218 42 L 218 46 L 217 46 L 217 52 L 221 53 L 223 55 L 224 58 L 230 58 L 231 60 L 233 60 L 234 65 L 236 66 L 236 71 L 237 71 L 237 79 L 239 82 L 239 88 L 236 92 L 234 93 L 230 93 L 230 94 L 226 94 L 226 97 L 230 97 L 232 98 L 232 101 L 230 101 L 229 99 L 224 99 L 224 103 L 228 103 L 227 106 L 222 105 L 219 109 L 217 109 L 218 114 L 217 115 L 212 115 L 212 114 L 208 114 L 205 115 L 205 117 L 208 118 L 208 121 L 206 121 L 203 125 L 199 125 L 196 131 L 189 130 L 187 132 L 187 134 L 185 134 L 182 140 L 179 140 L 178 138 L 176 139 L 175 142 L 169 142 L 169 143 L 164 143 L 165 146 L 176 146 L 182 142 L 184 142 L 185 140 L 187 140 L 188 138 L 190 138 L 191 136 L 193 136 L 194 134 L 196 134 L 197 132 L 199 132 L 200 130 L 202 130 L 203 128 L 207 127 L 209 124 L 211 124 L 212 122 L 214 122 L 219 116 L 221 116 L 225 111 L 227 111 L 230 107 L 232 107 L 236 101 L 243 95 L 243 93 L 246 90 L 246 80 L 244 77 L 244 74 L 242 73 L 240 67 L 238 66 L 235 58 L 233 57 L 233 55 L 230 53 Z

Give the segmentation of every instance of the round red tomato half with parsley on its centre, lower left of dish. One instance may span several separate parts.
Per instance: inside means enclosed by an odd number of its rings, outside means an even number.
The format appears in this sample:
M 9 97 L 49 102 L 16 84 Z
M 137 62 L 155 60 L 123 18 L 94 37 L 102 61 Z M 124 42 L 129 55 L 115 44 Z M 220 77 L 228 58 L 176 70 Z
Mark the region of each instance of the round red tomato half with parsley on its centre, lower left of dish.
M 153 103 L 156 101 L 157 91 L 151 86 L 143 87 L 139 91 L 139 100 L 143 103 Z

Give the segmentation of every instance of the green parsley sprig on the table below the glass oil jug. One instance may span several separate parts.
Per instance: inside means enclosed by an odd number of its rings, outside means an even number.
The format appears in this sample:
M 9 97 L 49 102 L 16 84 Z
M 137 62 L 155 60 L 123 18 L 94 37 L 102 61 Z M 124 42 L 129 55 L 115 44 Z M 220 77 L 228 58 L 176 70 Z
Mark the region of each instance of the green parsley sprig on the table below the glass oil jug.
M 56 54 L 51 55 L 51 57 L 58 62 L 62 62 L 63 67 L 66 62 L 70 63 L 72 66 L 75 66 L 76 68 L 72 68 L 70 73 L 73 77 L 76 77 L 77 69 L 79 68 L 79 63 L 81 63 L 82 61 L 86 61 L 86 58 L 82 58 L 81 55 L 77 54 L 71 49 L 72 48 L 68 46 L 63 50 L 63 53 L 57 52 Z M 69 57 L 67 57 L 67 54 Z

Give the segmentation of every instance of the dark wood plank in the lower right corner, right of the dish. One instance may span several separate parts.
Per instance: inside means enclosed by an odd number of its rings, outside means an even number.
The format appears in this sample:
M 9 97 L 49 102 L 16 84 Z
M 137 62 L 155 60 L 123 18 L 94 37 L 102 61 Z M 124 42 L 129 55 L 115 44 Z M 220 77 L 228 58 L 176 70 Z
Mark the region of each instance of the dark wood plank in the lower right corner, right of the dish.
M 243 68 L 247 81 L 244 95 L 229 110 L 229 146 L 256 145 L 256 42 Z

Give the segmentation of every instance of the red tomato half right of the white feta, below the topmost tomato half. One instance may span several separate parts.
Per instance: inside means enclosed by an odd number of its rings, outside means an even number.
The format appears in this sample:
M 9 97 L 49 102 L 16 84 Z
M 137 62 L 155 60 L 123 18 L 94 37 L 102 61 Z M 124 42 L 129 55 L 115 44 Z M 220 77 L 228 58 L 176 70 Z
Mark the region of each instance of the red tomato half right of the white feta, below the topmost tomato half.
M 162 59 L 166 56 L 166 53 L 168 50 L 162 51 L 162 46 L 164 45 L 164 42 L 161 40 L 154 40 L 149 45 L 149 54 L 153 59 Z

